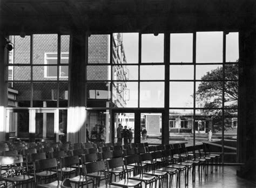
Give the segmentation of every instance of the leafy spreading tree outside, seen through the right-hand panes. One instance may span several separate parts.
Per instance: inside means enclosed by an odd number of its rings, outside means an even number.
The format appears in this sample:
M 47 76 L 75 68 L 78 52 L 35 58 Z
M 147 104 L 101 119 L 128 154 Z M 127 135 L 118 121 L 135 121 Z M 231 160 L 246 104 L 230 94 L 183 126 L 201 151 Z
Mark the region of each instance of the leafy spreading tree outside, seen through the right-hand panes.
M 212 115 L 213 128 L 215 131 L 221 130 L 223 105 L 223 88 L 224 88 L 224 106 L 225 106 L 225 130 L 231 128 L 231 118 L 237 112 L 238 107 L 238 64 L 225 65 L 225 82 L 223 87 L 223 67 L 213 69 L 202 76 L 201 83 L 196 93 L 198 107 L 213 108 L 203 109 L 201 114 Z M 214 81 L 205 81 L 214 80 Z

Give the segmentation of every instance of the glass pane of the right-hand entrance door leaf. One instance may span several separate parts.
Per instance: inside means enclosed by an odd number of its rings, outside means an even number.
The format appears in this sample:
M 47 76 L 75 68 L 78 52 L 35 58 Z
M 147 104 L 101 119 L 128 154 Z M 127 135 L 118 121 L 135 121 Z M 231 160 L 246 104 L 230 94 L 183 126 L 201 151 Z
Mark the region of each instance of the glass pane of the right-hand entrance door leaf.
M 161 144 L 162 114 L 140 114 L 140 143 Z

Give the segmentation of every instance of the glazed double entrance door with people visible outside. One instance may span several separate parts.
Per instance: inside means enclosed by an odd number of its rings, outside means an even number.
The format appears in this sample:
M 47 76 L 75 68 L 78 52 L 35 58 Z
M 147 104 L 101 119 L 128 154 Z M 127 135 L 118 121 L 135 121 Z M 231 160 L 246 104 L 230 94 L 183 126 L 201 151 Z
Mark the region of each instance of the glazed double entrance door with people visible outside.
M 161 144 L 163 112 L 160 110 L 112 110 L 112 141 Z M 120 124 L 120 128 L 118 128 Z M 121 127 L 122 126 L 122 127 Z M 127 129 L 127 130 L 126 130 Z M 120 135 L 122 130 L 122 135 Z M 145 133 L 142 135 L 142 133 Z M 128 137 L 128 139 L 126 139 Z

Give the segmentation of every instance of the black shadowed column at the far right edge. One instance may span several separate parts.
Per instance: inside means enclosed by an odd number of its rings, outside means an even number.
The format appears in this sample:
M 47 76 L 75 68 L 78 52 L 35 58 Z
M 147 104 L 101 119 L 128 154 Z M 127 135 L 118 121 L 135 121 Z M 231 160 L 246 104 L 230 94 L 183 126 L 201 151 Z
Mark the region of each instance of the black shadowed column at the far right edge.
M 256 32 L 239 33 L 237 161 L 239 176 L 256 179 Z

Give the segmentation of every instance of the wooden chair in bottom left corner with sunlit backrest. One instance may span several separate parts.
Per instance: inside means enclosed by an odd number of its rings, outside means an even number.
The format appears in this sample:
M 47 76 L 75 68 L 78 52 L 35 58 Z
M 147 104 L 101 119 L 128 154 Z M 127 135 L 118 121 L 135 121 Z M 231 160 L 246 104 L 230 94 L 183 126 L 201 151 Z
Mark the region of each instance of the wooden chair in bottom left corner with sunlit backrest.
M 7 187 L 8 182 L 12 184 L 13 187 L 17 185 L 29 184 L 33 183 L 33 176 L 28 176 L 24 174 L 23 168 L 23 157 L 22 155 L 14 155 L 14 156 L 1 156 L 0 157 L 1 165 L 0 171 L 2 172 L 2 165 L 9 166 L 6 169 L 7 175 L 2 177 L 2 179 L 6 182 L 5 186 Z

